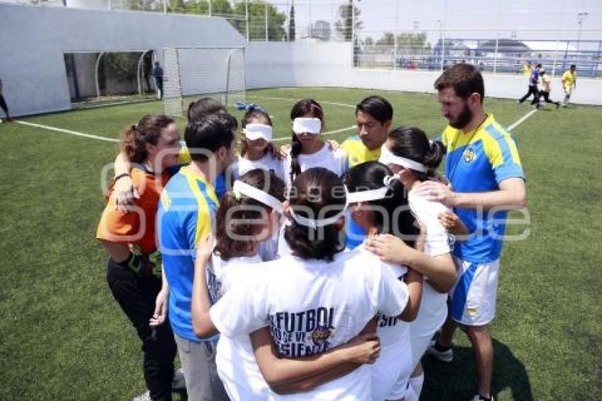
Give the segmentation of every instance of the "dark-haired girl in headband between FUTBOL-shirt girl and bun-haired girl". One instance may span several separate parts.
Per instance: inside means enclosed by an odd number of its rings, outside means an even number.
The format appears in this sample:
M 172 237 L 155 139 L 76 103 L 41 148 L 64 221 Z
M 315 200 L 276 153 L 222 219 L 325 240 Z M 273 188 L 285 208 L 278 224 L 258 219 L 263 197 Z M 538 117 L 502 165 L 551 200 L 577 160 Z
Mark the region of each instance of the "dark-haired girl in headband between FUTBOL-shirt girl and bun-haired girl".
M 406 188 L 392 171 L 379 162 L 358 164 L 346 172 L 343 182 L 348 190 L 351 217 L 368 236 L 391 234 L 410 246 L 419 237 L 418 224 L 408 207 Z M 363 248 L 360 245 L 358 248 Z M 365 250 L 363 252 L 366 252 Z M 421 273 L 407 266 L 392 265 L 399 280 L 407 283 L 410 298 L 421 299 Z M 419 314 L 419 305 L 414 305 Z M 420 306 L 420 310 L 421 310 Z M 414 320 L 416 315 L 411 316 Z M 409 377 L 414 369 L 410 339 L 411 323 L 378 315 L 377 334 L 381 353 L 372 366 L 373 400 L 417 400 Z

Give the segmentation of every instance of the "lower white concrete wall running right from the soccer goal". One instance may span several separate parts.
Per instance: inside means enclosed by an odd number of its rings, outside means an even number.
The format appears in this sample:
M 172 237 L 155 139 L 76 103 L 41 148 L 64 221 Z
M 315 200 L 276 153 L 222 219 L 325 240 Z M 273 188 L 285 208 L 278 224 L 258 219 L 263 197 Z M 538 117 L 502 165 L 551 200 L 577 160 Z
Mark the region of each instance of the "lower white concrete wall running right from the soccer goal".
M 441 72 L 358 69 L 352 67 L 350 43 L 249 43 L 247 88 L 276 86 L 343 86 L 434 93 Z M 485 96 L 516 99 L 526 93 L 527 79 L 484 74 Z M 560 77 L 552 79 L 551 98 L 564 96 Z M 573 103 L 602 105 L 602 80 L 579 79 Z

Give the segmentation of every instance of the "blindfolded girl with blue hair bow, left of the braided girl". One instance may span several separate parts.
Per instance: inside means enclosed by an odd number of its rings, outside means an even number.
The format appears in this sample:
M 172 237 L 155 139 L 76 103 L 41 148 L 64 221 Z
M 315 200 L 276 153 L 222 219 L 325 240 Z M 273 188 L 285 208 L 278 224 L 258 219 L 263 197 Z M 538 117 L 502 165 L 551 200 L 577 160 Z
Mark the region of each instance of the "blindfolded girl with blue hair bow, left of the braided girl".
M 244 114 L 241 125 L 240 157 L 231 166 L 233 179 L 253 169 L 265 169 L 284 180 L 284 161 L 272 143 L 270 115 L 259 108 L 251 109 Z

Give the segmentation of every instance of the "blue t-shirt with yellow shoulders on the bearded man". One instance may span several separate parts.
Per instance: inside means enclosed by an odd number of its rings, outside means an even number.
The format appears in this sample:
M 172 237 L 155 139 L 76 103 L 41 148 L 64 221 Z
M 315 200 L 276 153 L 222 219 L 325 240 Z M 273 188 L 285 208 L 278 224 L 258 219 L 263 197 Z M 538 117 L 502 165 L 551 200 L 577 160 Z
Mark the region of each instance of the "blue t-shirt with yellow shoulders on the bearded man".
M 493 115 L 487 115 L 476 132 L 448 126 L 441 142 L 447 149 L 445 176 L 454 192 L 496 191 L 505 179 L 525 178 L 516 142 Z M 454 208 L 454 213 L 471 235 L 466 241 L 455 242 L 453 254 L 474 263 L 499 259 L 506 231 L 506 210 Z

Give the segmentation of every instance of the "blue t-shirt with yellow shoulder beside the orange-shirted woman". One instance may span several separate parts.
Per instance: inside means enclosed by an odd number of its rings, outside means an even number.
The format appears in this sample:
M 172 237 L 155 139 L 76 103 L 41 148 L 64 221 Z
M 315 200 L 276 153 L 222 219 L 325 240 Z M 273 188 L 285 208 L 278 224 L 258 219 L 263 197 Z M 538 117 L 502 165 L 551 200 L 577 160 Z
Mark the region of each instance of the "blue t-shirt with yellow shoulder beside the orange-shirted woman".
M 195 247 L 211 231 L 218 205 L 212 184 L 189 166 L 182 167 L 161 192 L 157 237 L 169 283 L 169 321 L 174 333 L 190 341 L 203 341 L 193 332 L 191 316 Z

